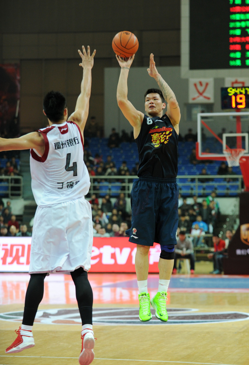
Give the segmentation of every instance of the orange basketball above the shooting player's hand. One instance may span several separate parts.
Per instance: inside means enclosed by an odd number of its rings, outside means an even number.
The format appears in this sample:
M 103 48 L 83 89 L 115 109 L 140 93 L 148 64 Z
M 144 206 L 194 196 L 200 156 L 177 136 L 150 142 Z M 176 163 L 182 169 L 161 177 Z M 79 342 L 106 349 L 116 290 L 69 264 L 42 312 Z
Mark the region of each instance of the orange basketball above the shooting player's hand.
M 119 32 L 112 39 L 112 49 L 118 56 L 129 58 L 138 50 L 138 39 L 126 30 Z

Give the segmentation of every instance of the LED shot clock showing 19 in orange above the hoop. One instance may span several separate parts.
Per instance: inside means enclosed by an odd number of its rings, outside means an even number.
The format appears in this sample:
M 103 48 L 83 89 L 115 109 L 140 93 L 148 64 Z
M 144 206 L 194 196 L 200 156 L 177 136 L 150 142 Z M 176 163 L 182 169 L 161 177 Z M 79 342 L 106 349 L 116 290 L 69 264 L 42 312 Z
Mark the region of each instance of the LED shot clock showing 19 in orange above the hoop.
M 221 108 L 240 110 L 249 108 L 249 86 L 221 88 Z

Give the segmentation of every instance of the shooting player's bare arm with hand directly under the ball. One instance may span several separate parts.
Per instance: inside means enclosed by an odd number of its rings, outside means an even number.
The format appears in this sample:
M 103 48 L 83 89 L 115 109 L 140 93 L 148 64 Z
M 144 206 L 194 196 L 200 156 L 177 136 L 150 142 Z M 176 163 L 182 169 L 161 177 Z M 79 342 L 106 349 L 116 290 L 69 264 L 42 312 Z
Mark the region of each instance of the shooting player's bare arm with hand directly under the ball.
M 118 63 L 121 67 L 118 87 L 117 87 L 118 106 L 122 111 L 123 115 L 125 116 L 125 118 L 129 120 L 129 123 L 133 126 L 134 137 L 137 138 L 141 129 L 143 114 L 142 112 L 138 111 L 127 98 L 128 95 L 127 79 L 130 66 L 134 59 L 134 55 L 127 60 L 122 60 L 118 56 L 116 56 L 116 59 L 118 60 Z

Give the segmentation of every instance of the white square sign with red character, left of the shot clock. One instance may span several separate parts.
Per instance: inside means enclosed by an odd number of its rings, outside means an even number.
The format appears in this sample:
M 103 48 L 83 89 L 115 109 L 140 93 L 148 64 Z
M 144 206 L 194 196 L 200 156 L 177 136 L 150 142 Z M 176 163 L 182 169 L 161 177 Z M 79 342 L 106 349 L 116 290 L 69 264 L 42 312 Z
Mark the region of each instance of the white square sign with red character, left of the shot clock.
M 203 104 L 214 102 L 213 78 L 189 78 L 189 103 Z

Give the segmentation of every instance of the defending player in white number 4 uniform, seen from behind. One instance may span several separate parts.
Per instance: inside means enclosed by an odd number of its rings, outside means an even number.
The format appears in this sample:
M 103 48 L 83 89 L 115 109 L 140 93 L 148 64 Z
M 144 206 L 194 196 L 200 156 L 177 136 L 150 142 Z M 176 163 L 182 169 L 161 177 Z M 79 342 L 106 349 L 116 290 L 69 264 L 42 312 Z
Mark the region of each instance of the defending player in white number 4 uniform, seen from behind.
M 0 138 L 0 151 L 31 149 L 32 192 L 37 203 L 34 218 L 30 280 L 25 296 L 23 322 L 17 338 L 6 353 L 17 353 L 35 346 L 32 326 L 43 298 L 44 278 L 50 273 L 70 273 L 82 319 L 81 365 L 94 359 L 92 331 L 92 288 L 87 278 L 92 252 L 91 206 L 84 199 L 90 178 L 83 161 L 83 131 L 91 93 L 91 69 L 95 50 L 90 55 L 82 46 L 79 55 L 83 78 L 75 111 L 68 118 L 65 97 L 49 92 L 43 113 L 49 127 L 20 138 Z

